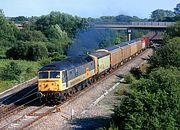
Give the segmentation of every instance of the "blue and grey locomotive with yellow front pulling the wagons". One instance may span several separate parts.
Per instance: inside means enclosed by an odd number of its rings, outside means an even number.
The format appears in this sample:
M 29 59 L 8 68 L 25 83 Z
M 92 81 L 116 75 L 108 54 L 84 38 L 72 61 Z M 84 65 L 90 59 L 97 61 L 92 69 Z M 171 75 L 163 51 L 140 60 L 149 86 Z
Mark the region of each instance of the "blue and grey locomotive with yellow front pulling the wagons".
M 90 56 L 46 65 L 38 73 L 38 95 L 45 100 L 61 101 L 85 87 L 95 72 L 95 62 Z

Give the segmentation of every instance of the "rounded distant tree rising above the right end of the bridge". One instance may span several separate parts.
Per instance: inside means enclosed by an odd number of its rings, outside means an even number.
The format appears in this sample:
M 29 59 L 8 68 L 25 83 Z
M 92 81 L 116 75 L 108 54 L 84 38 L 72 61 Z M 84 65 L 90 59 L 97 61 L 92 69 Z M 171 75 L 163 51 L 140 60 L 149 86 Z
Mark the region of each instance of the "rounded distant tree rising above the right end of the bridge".
M 153 21 L 163 21 L 166 17 L 174 17 L 174 12 L 170 10 L 157 9 L 152 12 L 151 19 Z

